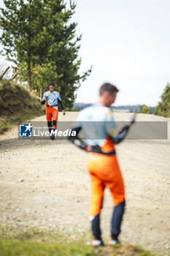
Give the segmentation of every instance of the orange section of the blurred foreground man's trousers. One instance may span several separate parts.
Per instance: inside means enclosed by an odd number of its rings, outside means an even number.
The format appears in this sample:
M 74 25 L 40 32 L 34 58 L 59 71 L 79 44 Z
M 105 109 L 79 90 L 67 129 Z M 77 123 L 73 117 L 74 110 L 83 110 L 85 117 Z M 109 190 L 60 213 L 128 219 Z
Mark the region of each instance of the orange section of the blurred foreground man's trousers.
M 125 200 L 123 177 L 116 155 L 106 156 L 90 153 L 88 157 L 88 173 L 92 184 L 90 216 L 94 217 L 100 214 L 105 187 L 108 187 L 111 192 L 113 206 L 117 206 Z

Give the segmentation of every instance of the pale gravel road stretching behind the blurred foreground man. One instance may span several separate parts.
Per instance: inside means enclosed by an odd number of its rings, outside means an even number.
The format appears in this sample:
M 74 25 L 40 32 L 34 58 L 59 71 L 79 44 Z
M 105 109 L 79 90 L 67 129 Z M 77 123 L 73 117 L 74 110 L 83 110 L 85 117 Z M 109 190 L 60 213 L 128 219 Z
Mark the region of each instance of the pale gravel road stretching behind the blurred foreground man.
M 74 120 L 77 113 L 59 115 Z M 126 120 L 128 113 L 116 113 Z M 167 120 L 138 114 L 139 121 Z M 45 121 L 45 116 L 34 118 Z M 169 126 L 170 127 L 170 126 Z M 169 137 L 170 138 L 170 137 Z M 86 233 L 90 179 L 87 154 L 66 140 L 18 140 L 18 127 L 0 136 L 0 225 L 45 227 Z M 126 212 L 120 239 L 170 252 L 170 140 L 125 140 L 117 157 L 126 190 Z M 102 230 L 109 238 L 112 200 L 105 192 Z

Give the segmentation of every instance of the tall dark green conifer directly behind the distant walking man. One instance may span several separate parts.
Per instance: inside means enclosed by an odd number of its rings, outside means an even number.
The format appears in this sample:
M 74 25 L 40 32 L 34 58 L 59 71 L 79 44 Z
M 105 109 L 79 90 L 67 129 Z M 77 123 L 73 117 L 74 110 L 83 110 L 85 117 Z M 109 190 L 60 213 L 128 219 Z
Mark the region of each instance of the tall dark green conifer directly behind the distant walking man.
M 62 6 L 61 1 L 50 1 L 50 8 L 45 16 L 46 24 L 50 24 L 47 26 L 50 35 L 48 54 L 45 65 L 39 67 L 38 74 L 34 75 L 35 86 L 39 81 L 39 86 L 43 85 L 47 89 L 50 80 L 55 82 L 67 108 L 72 108 L 76 98 L 75 91 L 91 72 L 91 68 L 82 75 L 78 72 L 81 64 L 81 59 L 78 58 L 81 36 L 75 37 L 77 23 L 70 22 L 75 7 L 75 4 L 71 4 L 70 10 L 66 10 L 66 4 Z

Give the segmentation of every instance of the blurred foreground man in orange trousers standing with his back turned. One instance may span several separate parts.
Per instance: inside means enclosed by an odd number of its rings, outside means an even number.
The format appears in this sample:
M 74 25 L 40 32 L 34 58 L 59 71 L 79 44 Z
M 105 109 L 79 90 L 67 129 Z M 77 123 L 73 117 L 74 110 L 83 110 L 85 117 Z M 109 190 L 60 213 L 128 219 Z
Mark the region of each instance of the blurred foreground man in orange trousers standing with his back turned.
M 88 173 L 92 184 L 90 220 L 94 238 L 93 246 L 104 246 L 101 238 L 100 213 L 106 187 L 112 194 L 114 206 L 109 245 L 119 243 L 118 236 L 125 209 L 125 189 L 117 162 L 115 144 L 125 138 L 128 129 L 134 123 L 134 117 L 123 129 L 117 131 L 110 109 L 112 103 L 115 102 L 117 91 L 118 89 L 112 84 L 104 83 L 100 88 L 98 103 L 80 111 L 72 129 L 76 132 L 76 136 L 69 137 L 72 143 L 90 152 Z M 85 134 L 87 144 L 77 136 L 81 129 Z

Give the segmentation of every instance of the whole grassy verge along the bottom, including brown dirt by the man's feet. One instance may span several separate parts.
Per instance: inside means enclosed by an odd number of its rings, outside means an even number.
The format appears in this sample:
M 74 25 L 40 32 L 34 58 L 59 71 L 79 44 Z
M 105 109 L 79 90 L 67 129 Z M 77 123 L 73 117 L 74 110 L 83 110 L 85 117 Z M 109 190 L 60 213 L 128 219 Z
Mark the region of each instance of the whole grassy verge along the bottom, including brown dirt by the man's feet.
M 69 234 L 62 235 L 56 230 L 31 228 L 15 231 L 9 227 L 0 227 L 1 256 L 155 256 L 151 252 L 130 244 L 94 249 L 87 244 L 87 241 L 89 241 L 89 235 L 82 236 L 77 241 L 77 239 L 70 239 Z

